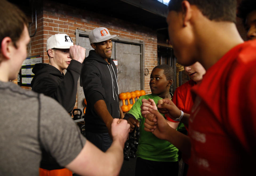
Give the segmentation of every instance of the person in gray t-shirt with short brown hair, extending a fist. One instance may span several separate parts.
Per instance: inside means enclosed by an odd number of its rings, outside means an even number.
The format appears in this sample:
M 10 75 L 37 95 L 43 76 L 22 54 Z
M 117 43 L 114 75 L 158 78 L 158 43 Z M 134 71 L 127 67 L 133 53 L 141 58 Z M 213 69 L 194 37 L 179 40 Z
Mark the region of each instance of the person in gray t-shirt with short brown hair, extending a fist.
M 54 99 L 9 82 L 17 78 L 30 37 L 22 11 L 6 0 L 0 11 L 0 175 L 38 175 L 42 149 L 79 175 L 118 175 L 130 125 L 113 120 L 113 144 L 104 153 Z

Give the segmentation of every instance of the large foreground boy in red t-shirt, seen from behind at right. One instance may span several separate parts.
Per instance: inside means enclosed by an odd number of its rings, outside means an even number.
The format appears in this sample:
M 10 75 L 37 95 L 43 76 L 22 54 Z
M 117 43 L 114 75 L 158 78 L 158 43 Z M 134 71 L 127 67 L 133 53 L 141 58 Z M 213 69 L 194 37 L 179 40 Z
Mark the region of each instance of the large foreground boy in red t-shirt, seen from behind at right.
M 151 109 L 144 129 L 190 157 L 188 175 L 255 172 L 256 40 L 244 42 L 239 35 L 236 2 L 169 3 L 168 31 L 177 61 L 185 66 L 199 61 L 206 74 L 192 88 L 196 98 L 189 118 L 189 136 L 170 128 L 160 113 Z M 159 100 L 158 108 L 170 110 L 171 103 Z

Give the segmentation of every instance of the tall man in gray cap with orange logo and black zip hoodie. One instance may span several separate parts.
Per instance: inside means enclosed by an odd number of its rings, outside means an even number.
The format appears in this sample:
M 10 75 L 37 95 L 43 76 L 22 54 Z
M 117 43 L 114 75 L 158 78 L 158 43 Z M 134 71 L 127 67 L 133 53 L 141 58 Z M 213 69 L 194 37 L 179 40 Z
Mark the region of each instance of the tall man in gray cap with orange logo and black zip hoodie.
M 83 91 L 87 101 L 85 112 L 85 136 L 102 151 L 112 143 L 113 118 L 123 118 L 119 106 L 117 67 L 111 58 L 112 38 L 105 27 L 89 33 L 91 47 L 82 68 Z

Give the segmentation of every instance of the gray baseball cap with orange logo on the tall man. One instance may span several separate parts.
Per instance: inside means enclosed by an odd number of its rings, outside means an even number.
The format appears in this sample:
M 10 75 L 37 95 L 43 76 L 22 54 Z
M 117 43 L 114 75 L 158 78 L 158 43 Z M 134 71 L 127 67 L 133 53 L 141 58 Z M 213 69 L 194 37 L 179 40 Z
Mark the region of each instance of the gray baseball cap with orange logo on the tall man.
M 99 43 L 112 39 L 117 35 L 110 35 L 109 30 L 105 27 L 97 27 L 89 33 L 90 43 Z

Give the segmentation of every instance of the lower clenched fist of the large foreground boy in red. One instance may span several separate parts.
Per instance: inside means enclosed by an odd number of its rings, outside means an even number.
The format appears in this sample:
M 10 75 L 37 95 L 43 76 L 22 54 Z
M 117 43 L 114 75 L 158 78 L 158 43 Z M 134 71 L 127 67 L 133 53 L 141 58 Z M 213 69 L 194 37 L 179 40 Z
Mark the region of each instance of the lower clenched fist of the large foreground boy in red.
M 149 114 L 146 115 L 144 130 L 152 132 L 159 139 L 166 140 L 168 129 L 171 128 L 165 118 L 157 111 L 149 108 Z

